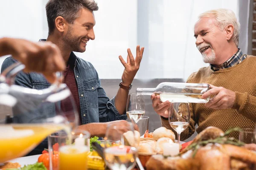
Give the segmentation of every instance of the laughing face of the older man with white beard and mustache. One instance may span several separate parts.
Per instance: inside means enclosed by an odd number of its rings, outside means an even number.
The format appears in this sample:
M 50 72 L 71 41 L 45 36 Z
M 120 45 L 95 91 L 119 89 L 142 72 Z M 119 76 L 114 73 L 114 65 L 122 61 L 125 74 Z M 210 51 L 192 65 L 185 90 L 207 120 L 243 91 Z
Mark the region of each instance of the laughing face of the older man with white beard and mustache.
M 215 25 L 214 18 L 203 17 L 195 24 L 194 33 L 195 44 L 204 62 L 216 64 L 227 43 L 224 31 Z

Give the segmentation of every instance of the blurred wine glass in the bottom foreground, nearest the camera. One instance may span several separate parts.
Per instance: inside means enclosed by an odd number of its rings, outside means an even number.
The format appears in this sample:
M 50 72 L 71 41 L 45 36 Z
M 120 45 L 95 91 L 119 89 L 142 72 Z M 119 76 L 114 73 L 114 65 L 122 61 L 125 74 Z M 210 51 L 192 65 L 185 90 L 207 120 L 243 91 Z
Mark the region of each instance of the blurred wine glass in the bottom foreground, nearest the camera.
M 133 124 L 125 125 L 111 122 L 105 135 L 105 163 L 111 170 L 131 170 L 136 165 L 138 140 L 140 133 Z

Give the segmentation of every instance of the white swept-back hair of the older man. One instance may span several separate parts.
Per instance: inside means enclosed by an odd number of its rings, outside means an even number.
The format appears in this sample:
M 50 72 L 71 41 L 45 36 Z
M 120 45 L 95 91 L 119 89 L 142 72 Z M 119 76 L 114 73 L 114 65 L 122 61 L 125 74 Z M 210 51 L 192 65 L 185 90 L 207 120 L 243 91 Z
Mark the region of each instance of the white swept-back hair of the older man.
M 238 47 L 239 44 L 239 34 L 240 34 L 240 23 L 236 19 L 236 14 L 230 9 L 216 9 L 206 11 L 199 15 L 199 19 L 207 17 L 207 18 L 215 18 L 216 25 L 220 28 L 221 31 L 228 25 L 233 25 L 233 40 Z

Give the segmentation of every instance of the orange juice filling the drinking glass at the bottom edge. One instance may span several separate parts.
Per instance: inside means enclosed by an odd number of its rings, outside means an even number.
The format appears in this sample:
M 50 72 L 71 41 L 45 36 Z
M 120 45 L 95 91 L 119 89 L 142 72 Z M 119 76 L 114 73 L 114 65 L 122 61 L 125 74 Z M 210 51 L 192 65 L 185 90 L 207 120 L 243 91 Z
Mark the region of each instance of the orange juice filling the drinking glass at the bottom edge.
M 59 170 L 87 170 L 88 146 L 66 145 L 59 148 Z

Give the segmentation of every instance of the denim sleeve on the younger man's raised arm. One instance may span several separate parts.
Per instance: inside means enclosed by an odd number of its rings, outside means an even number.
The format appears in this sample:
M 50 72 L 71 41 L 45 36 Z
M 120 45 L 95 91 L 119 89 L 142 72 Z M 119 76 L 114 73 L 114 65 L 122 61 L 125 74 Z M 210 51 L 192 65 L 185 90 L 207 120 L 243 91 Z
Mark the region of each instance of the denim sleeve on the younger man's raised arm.
M 101 86 L 101 82 L 97 74 L 97 81 L 99 83 L 98 90 L 98 102 L 99 102 L 99 122 L 111 122 L 114 120 L 126 120 L 127 116 L 124 113 L 120 115 L 115 107 L 115 97 L 109 99 L 104 89 Z

